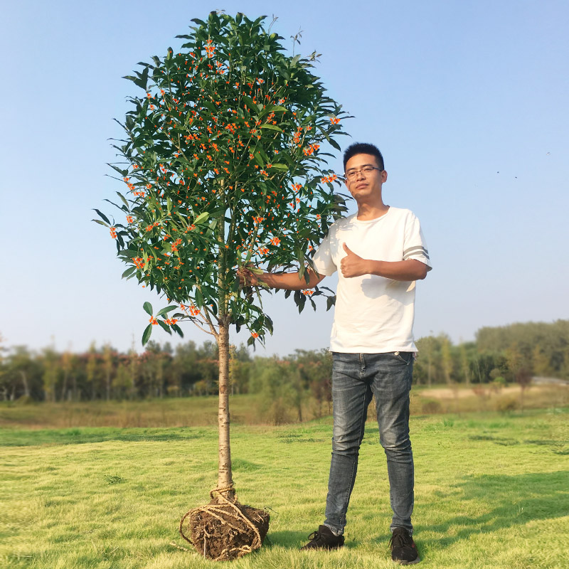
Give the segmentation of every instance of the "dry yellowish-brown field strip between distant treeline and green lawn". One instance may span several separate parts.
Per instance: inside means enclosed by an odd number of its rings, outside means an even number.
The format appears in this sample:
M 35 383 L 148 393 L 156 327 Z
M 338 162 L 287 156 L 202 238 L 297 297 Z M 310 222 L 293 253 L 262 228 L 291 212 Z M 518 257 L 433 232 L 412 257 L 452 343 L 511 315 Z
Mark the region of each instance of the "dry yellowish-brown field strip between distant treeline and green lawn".
M 278 408 L 275 405 L 278 404 Z M 163 398 L 134 401 L 85 401 L 81 403 L 0 403 L 0 427 L 32 429 L 65 427 L 193 427 L 217 425 L 216 396 Z M 373 406 L 373 402 L 371 403 Z M 415 386 L 411 391 L 411 414 L 516 411 L 522 405 L 517 385 L 496 389 L 489 385 L 456 389 L 447 385 Z M 531 385 L 524 390 L 523 408 L 543 409 L 569 405 L 568 385 Z M 298 421 L 289 400 L 268 401 L 262 395 L 230 398 L 234 425 L 275 425 Z M 302 403 L 303 420 L 331 413 L 329 404 L 307 396 Z M 368 418 L 373 418 L 370 410 Z

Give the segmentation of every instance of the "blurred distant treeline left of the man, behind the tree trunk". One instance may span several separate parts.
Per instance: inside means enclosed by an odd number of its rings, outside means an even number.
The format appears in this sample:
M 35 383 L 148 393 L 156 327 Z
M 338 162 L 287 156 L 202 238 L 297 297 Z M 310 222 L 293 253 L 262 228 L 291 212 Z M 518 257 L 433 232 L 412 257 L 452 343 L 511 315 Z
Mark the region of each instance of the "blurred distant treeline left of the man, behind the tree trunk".
M 331 357 L 326 350 L 297 350 L 286 358 L 252 358 L 245 345 L 230 347 L 233 394 L 265 395 L 260 405 L 279 416 L 312 395 L 318 409 L 329 411 Z M 121 353 L 105 345 L 85 353 L 53 348 L 31 352 L 25 346 L 0 352 L 0 400 L 85 401 L 184 397 L 218 393 L 218 347 L 188 341 L 176 346 L 149 341 L 144 353 Z

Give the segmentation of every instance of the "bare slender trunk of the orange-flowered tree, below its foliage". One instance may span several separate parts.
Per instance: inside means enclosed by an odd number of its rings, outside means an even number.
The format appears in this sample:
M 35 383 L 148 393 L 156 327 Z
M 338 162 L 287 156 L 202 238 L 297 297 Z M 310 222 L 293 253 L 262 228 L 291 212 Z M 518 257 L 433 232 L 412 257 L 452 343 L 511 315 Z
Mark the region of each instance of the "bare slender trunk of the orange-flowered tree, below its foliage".
M 229 440 L 229 324 L 219 324 L 219 469 L 218 490 L 227 499 L 233 500 L 233 477 L 231 475 L 231 449 Z

